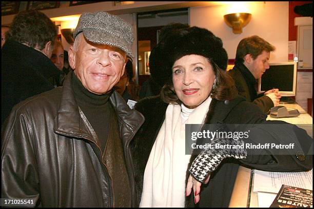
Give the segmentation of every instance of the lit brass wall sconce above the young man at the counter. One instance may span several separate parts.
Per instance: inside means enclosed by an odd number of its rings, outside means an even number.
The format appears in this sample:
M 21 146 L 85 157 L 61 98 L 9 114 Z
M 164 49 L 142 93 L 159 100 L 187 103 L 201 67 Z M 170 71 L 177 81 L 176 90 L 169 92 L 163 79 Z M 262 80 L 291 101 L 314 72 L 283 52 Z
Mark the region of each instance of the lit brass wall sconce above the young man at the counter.
M 239 34 L 242 33 L 242 28 L 250 22 L 251 17 L 250 13 L 232 13 L 224 15 L 224 20 L 232 28 L 234 34 Z

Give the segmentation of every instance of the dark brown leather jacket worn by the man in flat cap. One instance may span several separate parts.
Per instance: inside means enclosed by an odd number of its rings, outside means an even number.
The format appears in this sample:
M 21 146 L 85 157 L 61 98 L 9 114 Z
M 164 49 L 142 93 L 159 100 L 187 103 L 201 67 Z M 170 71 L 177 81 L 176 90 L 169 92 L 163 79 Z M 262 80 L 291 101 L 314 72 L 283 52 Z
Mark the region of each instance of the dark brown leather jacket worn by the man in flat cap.
M 2 130 L 2 198 L 33 198 L 42 207 L 114 207 L 108 168 L 110 153 L 100 145 L 71 88 L 64 86 L 15 106 Z M 114 92 L 134 206 L 134 173 L 129 143 L 144 122 Z

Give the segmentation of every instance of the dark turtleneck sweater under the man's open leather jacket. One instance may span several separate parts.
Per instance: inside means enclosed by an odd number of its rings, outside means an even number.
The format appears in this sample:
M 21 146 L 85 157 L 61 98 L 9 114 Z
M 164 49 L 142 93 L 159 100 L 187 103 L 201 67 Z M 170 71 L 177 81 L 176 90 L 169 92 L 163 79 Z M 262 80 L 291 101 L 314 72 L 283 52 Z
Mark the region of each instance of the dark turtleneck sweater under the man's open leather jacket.
M 106 94 L 89 92 L 75 73 L 72 88 L 78 107 L 81 108 L 99 141 L 102 158 L 112 180 L 115 207 L 131 206 L 131 187 L 126 168 L 123 144 L 116 112 L 109 101 L 113 90 Z

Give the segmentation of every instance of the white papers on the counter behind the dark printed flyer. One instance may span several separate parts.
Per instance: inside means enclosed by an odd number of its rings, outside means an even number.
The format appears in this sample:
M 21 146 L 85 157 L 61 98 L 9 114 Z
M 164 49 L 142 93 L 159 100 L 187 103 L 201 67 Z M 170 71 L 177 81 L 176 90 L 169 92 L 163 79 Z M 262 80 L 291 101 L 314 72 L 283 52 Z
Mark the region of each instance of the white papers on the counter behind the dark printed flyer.
M 312 171 L 266 172 L 254 170 L 253 192 L 257 193 L 258 206 L 269 207 L 282 184 L 312 190 Z

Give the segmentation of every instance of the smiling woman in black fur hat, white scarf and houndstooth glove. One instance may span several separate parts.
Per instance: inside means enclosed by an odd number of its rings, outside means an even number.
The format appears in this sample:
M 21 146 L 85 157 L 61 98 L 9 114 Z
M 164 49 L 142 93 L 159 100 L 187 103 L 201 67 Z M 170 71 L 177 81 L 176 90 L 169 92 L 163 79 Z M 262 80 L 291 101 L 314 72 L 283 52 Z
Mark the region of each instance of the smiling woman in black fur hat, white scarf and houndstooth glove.
M 311 157 L 301 162 L 292 151 L 286 155 L 267 149 L 255 155 L 249 150 L 219 150 L 220 157 L 208 151 L 186 155 L 185 124 L 260 125 L 271 121 L 266 122 L 266 115 L 256 105 L 237 95 L 232 78 L 225 72 L 228 58 L 219 37 L 192 27 L 169 37 L 166 45 L 168 59 L 164 61 L 171 78 L 160 97 L 143 99 L 135 106 L 145 116 L 130 144 L 141 207 L 191 207 L 197 203 L 200 207 L 227 207 L 240 164 L 267 171 L 311 169 Z M 293 141 L 299 145 L 296 150 L 309 148 L 311 139 L 306 132 L 289 125 L 285 130 L 252 128 L 255 134 L 246 142 Z M 220 142 L 232 143 L 227 139 Z M 201 182 L 207 183 L 202 192 Z M 189 195 L 192 187 L 193 195 Z

